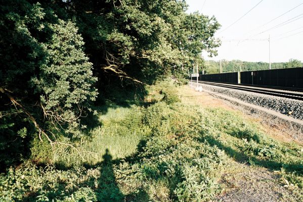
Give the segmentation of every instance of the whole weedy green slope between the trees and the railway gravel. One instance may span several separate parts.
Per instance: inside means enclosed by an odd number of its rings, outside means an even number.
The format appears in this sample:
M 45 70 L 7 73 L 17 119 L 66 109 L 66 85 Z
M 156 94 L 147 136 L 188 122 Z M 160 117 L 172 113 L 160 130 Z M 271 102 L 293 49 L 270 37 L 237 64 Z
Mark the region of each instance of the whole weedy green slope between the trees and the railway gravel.
M 145 100 L 155 104 L 96 108 L 80 154 L 60 147 L 48 157 L 69 169 L 10 169 L 0 178 L 1 201 L 207 201 L 224 187 L 223 173 L 240 169 L 236 162 L 278 170 L 302 196 L 300 145 L 268 137 L 240 113 L 180 102 L 168 81 Z

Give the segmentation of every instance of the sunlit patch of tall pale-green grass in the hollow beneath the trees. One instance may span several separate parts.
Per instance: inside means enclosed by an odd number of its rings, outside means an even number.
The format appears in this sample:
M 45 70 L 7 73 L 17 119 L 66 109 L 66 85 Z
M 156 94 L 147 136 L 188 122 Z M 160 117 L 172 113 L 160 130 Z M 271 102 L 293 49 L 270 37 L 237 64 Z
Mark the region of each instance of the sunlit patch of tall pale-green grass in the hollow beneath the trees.
M 101 126 L 89 130 L 88 137 L 77 142 L 75 148 L 68 145 L 54 147 L 54 164 L 61 168 L 83 164 L 93 166 L 102 163 L 106 149 L 112 160 L 132 157 L 136 153 L 138 144 L 146 137 L 140 107 L 111 107 L 97 116 Z

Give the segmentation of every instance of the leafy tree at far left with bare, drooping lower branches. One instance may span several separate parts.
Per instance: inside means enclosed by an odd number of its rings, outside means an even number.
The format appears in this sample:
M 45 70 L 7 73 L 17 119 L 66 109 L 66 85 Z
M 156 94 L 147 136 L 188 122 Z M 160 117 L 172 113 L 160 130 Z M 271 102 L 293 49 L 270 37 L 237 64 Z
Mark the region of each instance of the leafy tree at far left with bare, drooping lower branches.
M 0 161 L 10 164 L 35 137 L 54 143 L 58 135 L 79 136 L 79 117 L 97 92 L 74 23 L 22 0 L 0 10 Z

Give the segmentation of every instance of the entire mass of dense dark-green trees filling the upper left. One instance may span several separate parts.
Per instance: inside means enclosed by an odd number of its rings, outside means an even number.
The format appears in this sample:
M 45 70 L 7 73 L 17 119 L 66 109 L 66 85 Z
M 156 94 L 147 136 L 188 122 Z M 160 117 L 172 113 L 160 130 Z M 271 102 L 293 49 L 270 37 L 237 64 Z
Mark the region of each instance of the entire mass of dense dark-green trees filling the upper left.
M 181 66 L 220 44 L 215 18 L 187 14 L 181 0 L 0 2 L 4 166 L 28 156 L 37 138 L 51 145 L 81 138 L 80 119 L 98 93 L 102 100 L 115 85 L 180 77 Z

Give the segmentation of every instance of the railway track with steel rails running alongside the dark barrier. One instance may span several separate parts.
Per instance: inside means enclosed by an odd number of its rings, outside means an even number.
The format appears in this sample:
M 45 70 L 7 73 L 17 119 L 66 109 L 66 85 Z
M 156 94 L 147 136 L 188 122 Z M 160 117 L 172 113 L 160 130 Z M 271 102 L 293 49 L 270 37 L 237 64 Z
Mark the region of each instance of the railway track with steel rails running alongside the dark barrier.
M 303 100 L 303 92 L 300 91 L 290 91 L 285 89 L 273 89 L 273 88 L 265 88 L 265 87 L 254 87 L 254 86 L 247 86 L 247 85 L 239 85 L 239 84 L 227 84 L 227 83 L 216 83 L 216 82 L 209 82 L 209 81 L 199 81 L 199 83 L 207 84 L 207 85 L 214 85 L 220 87 L 226 87 L 231 89 L 237 90 L 244 90 L 249 92 L 273 95 L 278 97 L 285 97 L 295 100 Z

